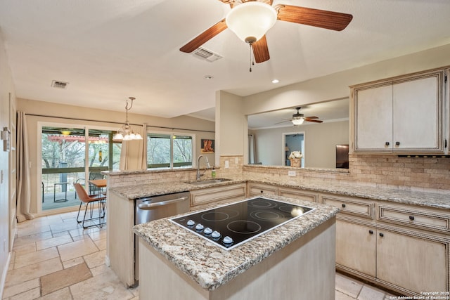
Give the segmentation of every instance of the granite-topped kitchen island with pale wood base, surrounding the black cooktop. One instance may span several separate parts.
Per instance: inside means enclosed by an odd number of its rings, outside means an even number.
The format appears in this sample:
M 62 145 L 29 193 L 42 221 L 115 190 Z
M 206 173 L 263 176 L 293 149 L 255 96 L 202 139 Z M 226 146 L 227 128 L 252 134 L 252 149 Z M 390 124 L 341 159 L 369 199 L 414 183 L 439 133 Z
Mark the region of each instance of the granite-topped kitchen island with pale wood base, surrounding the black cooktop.
M 229 251 L 160 219 L 139 236 L 140 299 L 334 299 L 335 216 L 315 208 Z

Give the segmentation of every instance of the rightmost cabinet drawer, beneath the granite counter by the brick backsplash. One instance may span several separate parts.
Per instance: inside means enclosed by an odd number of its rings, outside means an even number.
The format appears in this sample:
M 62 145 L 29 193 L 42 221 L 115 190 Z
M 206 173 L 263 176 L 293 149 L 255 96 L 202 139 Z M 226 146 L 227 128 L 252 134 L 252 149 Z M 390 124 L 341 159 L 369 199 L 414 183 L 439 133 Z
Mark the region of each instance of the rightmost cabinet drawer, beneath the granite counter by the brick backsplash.
M 439 214 L 426 207 L 379 204 L 377 219 L 414 228 L 450 233 L 450 214 Z

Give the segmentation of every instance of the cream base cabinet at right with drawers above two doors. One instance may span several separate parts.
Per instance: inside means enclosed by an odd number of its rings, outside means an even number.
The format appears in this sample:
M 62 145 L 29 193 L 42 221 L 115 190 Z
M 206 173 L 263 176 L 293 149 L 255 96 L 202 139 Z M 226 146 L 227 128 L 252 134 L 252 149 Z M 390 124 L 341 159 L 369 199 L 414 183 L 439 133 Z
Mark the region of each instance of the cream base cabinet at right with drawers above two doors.
M 449 291 L 450 212 L 319 195 L 340 207 L 336 268 L 401 294 Z

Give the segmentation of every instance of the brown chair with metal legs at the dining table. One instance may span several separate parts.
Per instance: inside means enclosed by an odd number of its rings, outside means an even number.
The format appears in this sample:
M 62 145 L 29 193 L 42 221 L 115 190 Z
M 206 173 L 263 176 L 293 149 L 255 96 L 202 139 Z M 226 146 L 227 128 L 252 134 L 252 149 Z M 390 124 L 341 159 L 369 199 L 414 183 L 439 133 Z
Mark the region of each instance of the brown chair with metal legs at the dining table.
M 105 213 L 106 213 L 106 196 L 105 195 L 88 195 L 86 190 L 84 190 L 83 185 L 80 183 L 74 183 L 75 191 L 79 197 L 81 202 L 79 203 L 77 222 L 82 223 L 83 228 L 89 228 L 93 226 L 102 227 L 106 223 Z M 86 209 L 84 209 L 84 217 L 82 220 L 79 220 L 79 212 L 82 209 L 82 205 L 86 205 Z M 98 204 L 98 216 L 94 215 L 94 204 Z M 89 207 L 89 212 L 88 212 Z M 89 219 L 86 219 L 86 215 L 89 215 Z M 98 220 L 98 223 L 94 221 Z M 84 222 L 92 222 L 91 225 L 85 226 Z

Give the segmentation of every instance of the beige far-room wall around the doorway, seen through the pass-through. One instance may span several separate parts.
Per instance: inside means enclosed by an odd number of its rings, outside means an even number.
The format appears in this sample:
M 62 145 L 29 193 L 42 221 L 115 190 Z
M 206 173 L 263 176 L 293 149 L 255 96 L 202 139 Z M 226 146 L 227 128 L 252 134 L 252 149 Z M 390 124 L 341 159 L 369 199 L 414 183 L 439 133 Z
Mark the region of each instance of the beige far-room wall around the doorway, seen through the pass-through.
M 304 132 L 304 167 L 335 168 L 335 147 L 349 143 L 349 122 L 328 122 L 260 129 L 256 134 L 258 161 L 266 166 L 283 165 L 283 133 Z

